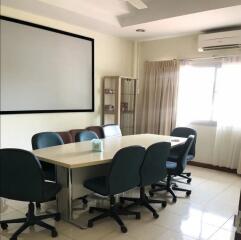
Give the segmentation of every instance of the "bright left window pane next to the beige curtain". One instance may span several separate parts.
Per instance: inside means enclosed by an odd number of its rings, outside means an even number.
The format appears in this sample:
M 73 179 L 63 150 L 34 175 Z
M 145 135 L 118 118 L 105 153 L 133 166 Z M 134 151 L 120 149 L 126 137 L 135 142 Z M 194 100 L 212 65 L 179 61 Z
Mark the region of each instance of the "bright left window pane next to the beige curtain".
M 181 66 L 177 125 L 213 120 L 215 81 L 215 66 Z

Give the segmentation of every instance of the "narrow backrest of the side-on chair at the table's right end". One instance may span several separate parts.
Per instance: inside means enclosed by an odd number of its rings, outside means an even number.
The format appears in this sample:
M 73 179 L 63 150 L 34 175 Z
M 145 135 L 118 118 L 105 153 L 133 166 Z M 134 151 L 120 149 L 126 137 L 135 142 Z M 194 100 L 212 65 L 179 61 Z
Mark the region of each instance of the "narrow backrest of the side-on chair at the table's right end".
M 181 174 L 183 172 L 183 170 L 185 169 L 186 165 L 187 165 L 187 156 L 188 156 L 188 153 L 189 153 L 189 151 L 192 147 L 194 138 L 195 137 L 193 135 L 189 135 L 185 144 L 181 145 L 182 150 L 181 150 L 180 154 L 178 155 L 178 158 L 177 158 L 177 161 L 176 161 L 177 167 L 174 170 L 177 175 Z

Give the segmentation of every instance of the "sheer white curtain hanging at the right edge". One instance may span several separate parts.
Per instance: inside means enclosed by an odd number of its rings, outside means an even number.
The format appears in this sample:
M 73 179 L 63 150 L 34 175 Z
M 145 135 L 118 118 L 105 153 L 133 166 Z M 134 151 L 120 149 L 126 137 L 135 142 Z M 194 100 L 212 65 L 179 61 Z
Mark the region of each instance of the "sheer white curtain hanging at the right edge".
M 217 75 L 213 164 L 241 174 L 241 59 L 225 59 Z

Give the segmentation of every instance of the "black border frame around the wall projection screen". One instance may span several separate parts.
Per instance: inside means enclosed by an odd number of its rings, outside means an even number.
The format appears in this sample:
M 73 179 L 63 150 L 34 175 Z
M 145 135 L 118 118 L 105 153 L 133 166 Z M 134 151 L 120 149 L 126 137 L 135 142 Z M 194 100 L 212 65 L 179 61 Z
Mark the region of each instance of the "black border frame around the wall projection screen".
M 76 38 L 80 38 L 80 39 L 84 39 L 87 41 L 91 42 L 91 54 L 92 54 L 92 106 L 90 109 L 51 109 L 51 110 L 14 110 L 14 111 L 1 111 L 0 110 L 0 115 L 3 114 L 28 114 L 28 113 L 63 113 L 63 112 L 94 112 L 95 111 L 95 79 L 94 79 L 94 73 L 95 73 L 95 40 L 93 38 L 90 37 L 86 37 L 86 36 L 82 36 L 79 34 L 75 34 L 75 33 L 71 33 L 71 32 L 66 32 L 60 29 L 56 29 L 56 28 L 51 28 L 51 27 L 47 27 L 47 26 L 43 26 L 43 25 L 39 25 L 36 23 L 32 23 L 32 22 L 27 22 L 27 21 L 23 21 L 23 20 L 19 20 L 19 19 L 15 19 L 15 18 L 11 18 L 11 17 L 7 17 L 7 16 L 2 16 L 0 15 L 0 20 L 4 20 L 4 21 L 9 21 L 9 22 L 14 22 L 17 24 L 22 24 L 22 25 L 26 25 L 29 27 L 34 27 L 34 28 L 39 28 L 42 30 L 47 30 L 50 32 L 54 32 L 57 34 L 63 34 L 66 36 L 70 36 L 70 37 L 76 37 Z M 0 86 L 1 87 L 1 86 Z

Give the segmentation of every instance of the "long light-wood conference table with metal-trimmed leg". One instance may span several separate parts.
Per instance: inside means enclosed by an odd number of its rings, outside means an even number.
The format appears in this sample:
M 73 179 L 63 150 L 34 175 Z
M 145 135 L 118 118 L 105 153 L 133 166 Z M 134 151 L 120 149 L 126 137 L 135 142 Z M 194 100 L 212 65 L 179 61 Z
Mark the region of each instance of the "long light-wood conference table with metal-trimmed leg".
M 57 208 L 62 219 L 80 228 L 85 227 L 73 219 L 72 202 L 90 193 L 84 188 L 83 182 L 88 178 L 106 174 L 109 163 L 118 150 L 131 145 L 148 148 L 157 142 L 170 142 L 173 148 L 183 144 L 186 138 L 137 134 L 101 140 L 104 147 L 102 152 L 92 151 L 91 141 L 69 143 L 33 151 L 41 161 L 56 165 L 57 182 L 62 185 L 61 191 L 57 194 Z

